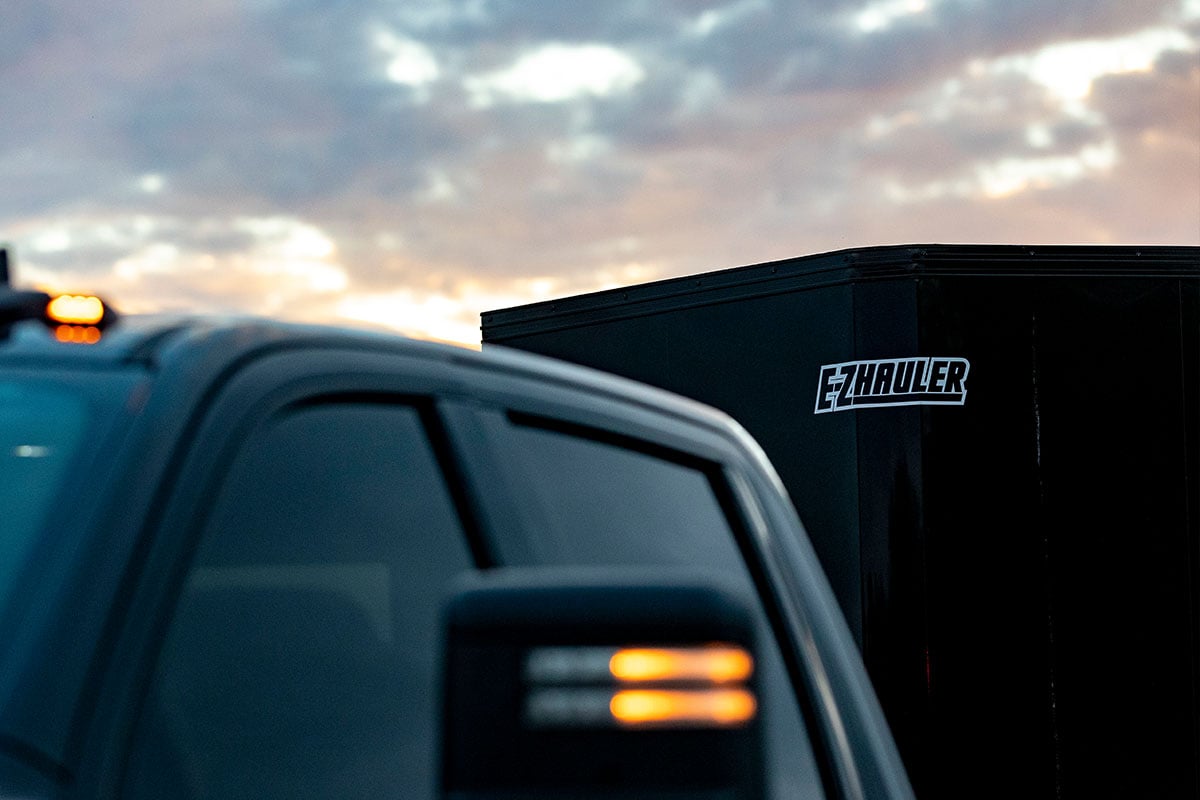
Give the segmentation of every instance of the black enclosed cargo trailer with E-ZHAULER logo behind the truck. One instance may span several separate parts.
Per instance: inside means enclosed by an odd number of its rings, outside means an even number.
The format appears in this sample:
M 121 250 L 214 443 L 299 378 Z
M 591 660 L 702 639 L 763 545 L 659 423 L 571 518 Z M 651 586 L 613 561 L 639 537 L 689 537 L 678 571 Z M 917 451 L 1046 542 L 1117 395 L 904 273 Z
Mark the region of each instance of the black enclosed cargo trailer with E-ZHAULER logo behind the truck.
M 1200 248 L 851 249 L 482 330 L 763 444 L 919 796 L 1200 796 Z

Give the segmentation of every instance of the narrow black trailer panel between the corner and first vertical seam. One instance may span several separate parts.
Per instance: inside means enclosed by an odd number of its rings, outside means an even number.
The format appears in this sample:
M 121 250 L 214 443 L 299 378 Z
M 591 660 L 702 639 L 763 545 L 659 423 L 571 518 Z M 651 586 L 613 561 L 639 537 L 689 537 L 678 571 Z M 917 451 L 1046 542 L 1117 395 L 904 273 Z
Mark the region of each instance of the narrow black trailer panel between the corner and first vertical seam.
M 929 575 L 926 796 L 1054 798 L 1045 531 L 1038 524 L 1036 282 L 923 282 L 923 347 L 970 359 L 962 409 L 923 433 Z M 946 764 L 953 764 L 947 769 Z

